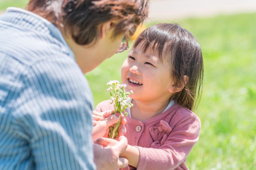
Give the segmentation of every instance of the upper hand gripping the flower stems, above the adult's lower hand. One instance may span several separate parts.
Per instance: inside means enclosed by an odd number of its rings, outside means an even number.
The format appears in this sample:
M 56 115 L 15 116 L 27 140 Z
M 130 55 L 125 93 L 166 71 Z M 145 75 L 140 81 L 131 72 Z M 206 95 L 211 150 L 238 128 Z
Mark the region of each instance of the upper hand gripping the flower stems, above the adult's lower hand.
M 114 110 L 108 110 L 105 112 L 96 112 L 93 111 L 93 124 L 94 127 L 92 129 L 92 139 L 95 140 L 100 137 L 106 137 L 109 136 L 109 127 L 114 126 L 115 123 L 117 123 L 120 119 L 120 113 L 114 113 Z M 121 124 L 118 128 L 119 135 L 116 137 L 116 139 L 119 139 L 119 136 L 124 136 L 126 133 L 126 119 L 125 116 L 122 115 Z

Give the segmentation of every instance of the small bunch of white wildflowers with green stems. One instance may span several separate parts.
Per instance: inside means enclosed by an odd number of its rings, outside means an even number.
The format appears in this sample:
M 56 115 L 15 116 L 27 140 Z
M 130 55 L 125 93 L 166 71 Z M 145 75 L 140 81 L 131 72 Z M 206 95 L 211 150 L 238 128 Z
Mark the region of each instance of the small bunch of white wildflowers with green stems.
M 132 94 L 133 91 L 126 92 L 124 88 L 126 87 L 126 84 L 119 84 L 119 81 L 112 80 L 107 83 L 108 91 L 110 92 L 110 104 L 114 104 L 114 113 L 119 112 L 120 113 L 120 120 L 114 124 L 114 127 L 109 127 L 110 133 L 109 138 L 115 139 L 118 135 L 118 128 L 121 123 L 121 114 L 124 114 L 125 116 L 128 115 L 128 113 L 125 111 L 127 107 L 131 108 L 133 104 L 128 100 L 128 95 Z M 113 114 L 114 114 L 113 113 Z

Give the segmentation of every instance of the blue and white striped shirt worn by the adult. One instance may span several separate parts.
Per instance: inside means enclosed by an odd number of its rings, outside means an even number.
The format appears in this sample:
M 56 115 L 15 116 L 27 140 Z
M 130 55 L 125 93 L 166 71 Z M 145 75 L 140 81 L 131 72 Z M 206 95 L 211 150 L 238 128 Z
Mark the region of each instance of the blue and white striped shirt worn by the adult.
M 0 16 L 0 169 L 95 169 L 92 94 L 60 31 L 9 8 Z

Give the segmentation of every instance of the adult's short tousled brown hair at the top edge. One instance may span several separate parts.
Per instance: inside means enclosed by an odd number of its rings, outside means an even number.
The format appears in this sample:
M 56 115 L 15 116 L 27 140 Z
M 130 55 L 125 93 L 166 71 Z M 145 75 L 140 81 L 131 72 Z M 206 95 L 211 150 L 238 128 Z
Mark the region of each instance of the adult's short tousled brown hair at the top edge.
M 30 0 L 29 11 L 47 18 L 56 26 L 69 30 L 77 44 L 97 42 L 98 25 L 111 19 L 120 19 L 113 37 L 129 32 L 148 15 L 149 0 Z

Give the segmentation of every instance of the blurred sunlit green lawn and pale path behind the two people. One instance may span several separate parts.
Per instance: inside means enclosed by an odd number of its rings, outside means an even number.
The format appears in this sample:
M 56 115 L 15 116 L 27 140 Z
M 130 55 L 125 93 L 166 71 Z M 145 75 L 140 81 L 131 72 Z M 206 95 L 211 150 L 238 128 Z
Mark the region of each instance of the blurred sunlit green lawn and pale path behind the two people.
M 0 0 L 0 15 L 8 6 L 25 8 L 27 2 Z M 201 120 L 200 138 L 187 166 L 255 170 L 256 1 L 153 0 L 149 19 L 135 35 L 161 22 L 178 23 L 193 33 L 204 58 L 204 92 L 195 111 Z M 121 80 L 127 53 L 114 55 L 85 75 L 95 106 L 110 98 L 106 83 Z

